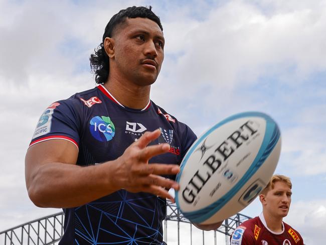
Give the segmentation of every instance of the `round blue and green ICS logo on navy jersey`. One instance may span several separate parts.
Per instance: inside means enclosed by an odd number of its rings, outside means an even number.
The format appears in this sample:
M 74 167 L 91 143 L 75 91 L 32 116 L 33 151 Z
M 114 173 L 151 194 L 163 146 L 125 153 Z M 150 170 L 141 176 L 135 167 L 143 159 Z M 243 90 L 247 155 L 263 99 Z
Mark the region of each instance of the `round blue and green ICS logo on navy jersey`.
M 98 141 L 110 141 L 115 135 L 114 124 L 108 116 L 94 116 L 89 124 L 92 136 Z

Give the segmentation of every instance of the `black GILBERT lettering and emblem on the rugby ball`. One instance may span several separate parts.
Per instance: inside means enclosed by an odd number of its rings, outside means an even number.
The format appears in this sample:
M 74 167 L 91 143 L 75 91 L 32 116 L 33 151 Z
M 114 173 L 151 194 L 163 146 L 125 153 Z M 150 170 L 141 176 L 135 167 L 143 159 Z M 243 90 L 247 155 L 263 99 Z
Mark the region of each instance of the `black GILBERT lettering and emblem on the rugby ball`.
M 221 167 L 222 164 L 226 163 L 227 159 L 237 151 L 244 142 L 249 141 L 257 134 L 258 130 L 254 128 L 254 125 L 254 122 L 251 120 L 245 122 L 245 124 L 240 126 L 239 129 L 227 137 L 227 139 L 223 141 L 222 144 L 220 144 L 208 157 L 204 157 L 205 151 L 207 150 L 204 142 L 204 147 L 201 147 L 204 148 L 204 150 L 201 149 L 202 158 L 199 164 L 202 164 L 205 167 L 198 169 L 185 188 L 181 190 L 185 202 L 189 204 L 193 203 L 195 205 L 196 202 L 194 201 L 198 193 L 202 190 L 211 176 Z M 202 159 L 204 161 L 202 161 Z M 228 174 L 232 173 L 227 173 L 225 177 L 227 177 Z

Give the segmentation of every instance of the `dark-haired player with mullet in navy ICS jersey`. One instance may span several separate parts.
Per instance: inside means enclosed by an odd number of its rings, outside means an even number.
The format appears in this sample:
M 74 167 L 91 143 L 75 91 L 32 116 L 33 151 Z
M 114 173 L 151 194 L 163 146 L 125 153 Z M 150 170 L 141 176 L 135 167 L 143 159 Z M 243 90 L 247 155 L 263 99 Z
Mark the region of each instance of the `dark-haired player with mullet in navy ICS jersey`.
M 151 7 L 114 15 L 90 57 L 99 85 L 54 102 L 38 121 L 26 184 L 37 206 L 64 209 L 59 244 L 166 244 L 168 190 L 179 189 L 175 175 L 196 136 L 149 98 L 162 30 Z

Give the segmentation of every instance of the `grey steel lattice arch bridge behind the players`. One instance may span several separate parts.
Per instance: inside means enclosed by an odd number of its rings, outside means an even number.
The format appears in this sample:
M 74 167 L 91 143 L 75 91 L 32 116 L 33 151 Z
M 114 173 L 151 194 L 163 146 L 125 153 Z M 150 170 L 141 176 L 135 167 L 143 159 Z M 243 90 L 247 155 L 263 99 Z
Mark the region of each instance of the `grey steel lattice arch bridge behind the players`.
M 249 219 L 249 216 L 236 214 L 226 219 L 221 227 L 214 231 L 214 244 L 216 245 L 216 232 L 225 234 L 226 244 L 229 244 L 229 236 L 242 222 Z M 191 244 L 192 227 L 191 222 L 183 216 L 175 203 L 167 202 L 167 216 L 164 221 L 164 240 L 168 240 L 168 221 L 176 221 L 178 225 L 178 244 L 180 244 L 180 223 L 190 224 Z M 63 235 L 64 213 L 59 212 L 53 215 L 45 216 L 33 221 L 21 224 L 14 228 L 0 232 L 1 245 L 50 245 L 56 244 Z M 204 231 L 203 244 L 204 242 Z

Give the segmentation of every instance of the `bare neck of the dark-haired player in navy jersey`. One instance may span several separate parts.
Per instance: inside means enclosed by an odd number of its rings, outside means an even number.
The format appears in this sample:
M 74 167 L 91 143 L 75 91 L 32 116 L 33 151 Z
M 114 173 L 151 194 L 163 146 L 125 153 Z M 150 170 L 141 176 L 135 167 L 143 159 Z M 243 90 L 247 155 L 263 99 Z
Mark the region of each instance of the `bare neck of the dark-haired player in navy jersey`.
M 114 98 L 126 107 L 143 109 L 148 104 L 150 85 L 139 86 L 112 76 L 109 76 L 109 79 L 103 85 Z

